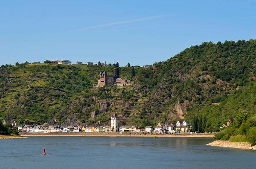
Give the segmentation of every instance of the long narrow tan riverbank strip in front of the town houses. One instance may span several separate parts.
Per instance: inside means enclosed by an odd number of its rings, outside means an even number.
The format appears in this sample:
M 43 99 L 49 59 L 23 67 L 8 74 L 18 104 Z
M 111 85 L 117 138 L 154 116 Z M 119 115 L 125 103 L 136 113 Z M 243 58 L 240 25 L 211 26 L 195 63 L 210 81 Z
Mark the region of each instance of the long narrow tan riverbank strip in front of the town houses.
M 119 134 L 119 133 L 20 133 L 25 137 L 153 137 L 154 134 Z M 213 134 L 158 134 L 157 137 L 214 137 Z

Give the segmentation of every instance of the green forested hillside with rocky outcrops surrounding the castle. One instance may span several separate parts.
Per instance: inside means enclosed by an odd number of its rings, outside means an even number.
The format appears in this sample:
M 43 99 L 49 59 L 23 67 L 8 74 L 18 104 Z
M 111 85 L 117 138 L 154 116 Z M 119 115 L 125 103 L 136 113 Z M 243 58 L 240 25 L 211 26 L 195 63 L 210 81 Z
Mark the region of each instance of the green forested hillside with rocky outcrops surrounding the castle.
M 256 40 L 204 42 L 150 68 L 121 67 L 131 85 L 95 89 L 111 66 L 26 64 L 0 69 L 0 118 L 59 124 L 108 123 L 145 126 L 204 116 L 204 130 L 256 109 Z

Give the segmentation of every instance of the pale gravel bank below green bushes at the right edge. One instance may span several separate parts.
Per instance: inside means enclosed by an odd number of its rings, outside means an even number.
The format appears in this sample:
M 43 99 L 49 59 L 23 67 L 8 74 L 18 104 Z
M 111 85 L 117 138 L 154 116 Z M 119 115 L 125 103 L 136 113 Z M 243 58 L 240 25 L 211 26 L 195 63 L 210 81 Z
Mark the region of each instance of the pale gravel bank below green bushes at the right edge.
M 207 146 L 256 150 L 256 146 L 250 146 L 250 143 L 246 143 L 246 142 L 231 142 L 231 141 L 216 140 L 216 141 L 213 141 L 212 143 L 207 144 Z

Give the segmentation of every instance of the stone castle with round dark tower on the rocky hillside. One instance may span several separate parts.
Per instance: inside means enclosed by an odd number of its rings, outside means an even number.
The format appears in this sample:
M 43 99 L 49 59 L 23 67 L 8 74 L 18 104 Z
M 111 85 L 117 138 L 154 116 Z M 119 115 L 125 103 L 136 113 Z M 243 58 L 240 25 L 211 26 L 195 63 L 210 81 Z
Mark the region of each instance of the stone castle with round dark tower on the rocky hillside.
M 99 80 L 96 87 L 103 87 L 107 85 L 122 85 L 130 83 L 130 80 L 119 77 L 119 68 L 114 68 L 114 75 L 108 75 L 108 72 L 103 71 L 99 73 Z

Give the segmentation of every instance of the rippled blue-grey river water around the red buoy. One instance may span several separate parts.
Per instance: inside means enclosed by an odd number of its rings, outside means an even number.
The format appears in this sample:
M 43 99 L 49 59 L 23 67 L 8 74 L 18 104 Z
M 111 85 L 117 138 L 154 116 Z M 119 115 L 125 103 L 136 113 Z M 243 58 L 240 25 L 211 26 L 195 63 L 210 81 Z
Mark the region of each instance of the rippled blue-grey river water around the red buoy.
M 256 151 L 206 145 L 212 141 L 182 137 L 5 139 L 0 140 L 0 169 L 255 168 Z

